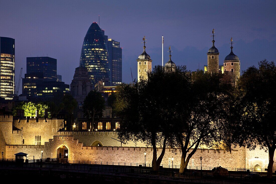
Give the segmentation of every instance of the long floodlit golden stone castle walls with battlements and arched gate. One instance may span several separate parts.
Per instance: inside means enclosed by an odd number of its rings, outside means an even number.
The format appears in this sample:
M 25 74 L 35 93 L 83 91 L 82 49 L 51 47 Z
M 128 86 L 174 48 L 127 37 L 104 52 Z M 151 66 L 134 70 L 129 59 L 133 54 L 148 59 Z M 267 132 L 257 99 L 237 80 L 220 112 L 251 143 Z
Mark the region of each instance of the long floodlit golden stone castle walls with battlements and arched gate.
M 12 116 L 0 115 L 0 152 L 6 159 L 14 159 L 14 154 L 23 152 L 28 154 L 28 159 L 59 158 L 60 148 L 68 151 L 68 160 L 87 162 L 120 162 L 151 164 L 152 148 L 147 148 L 143 143 L 118 141 L 116 132 L 64 132 L 59 131 L 63 126 L 60 119 L 13 119 Z M 23 129 L 21 129 L 23 128 Z M 22 135 L 23 130 L 23 135 Z M 35 136 L 41 136 L 41 145 L 35 145 Z M 24 144 L 22 144 L 22 138 Z M 16 140 L 16 142 L 15 142 Z M 37 142 L 36 142 L 37 143 Z M 100 145 L 100 146 L 98 146 Z M 64 147 L 65 146 L 65 147 Z M 65 153 L 65 152 L 64 152 Z M 158 148 L 157 155 L 160 155 Z M 164 166 L 179 165 L 181 153 L 178 149 L 166 148 L 162 163 Z M 252 168 L 265 169 L 268 165 L 268 153 L 263 149 L 250 151 L 244 147 L 234 150 L 224 149 L 198 149 L 190 159 L 188 167 L 200 167 L 203 157 L 203 167 L 216 167 L 221 165 L 227 168 Z M 63 158 L 63 155 L 62 155 Z M 274 161 L 275 163 L 275 161 Z

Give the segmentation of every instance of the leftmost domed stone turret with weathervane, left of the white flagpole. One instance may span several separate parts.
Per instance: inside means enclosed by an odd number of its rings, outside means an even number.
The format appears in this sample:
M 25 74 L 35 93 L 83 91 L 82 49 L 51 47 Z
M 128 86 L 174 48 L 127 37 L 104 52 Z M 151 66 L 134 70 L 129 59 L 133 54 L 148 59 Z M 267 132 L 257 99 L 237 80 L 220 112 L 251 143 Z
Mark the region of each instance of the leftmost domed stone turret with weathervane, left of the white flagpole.
M 137 73 L 138 73 L 138 78 L 137 80 L 139 81 L 140 78 L 148 79 L 147 72 L 152 71 L 152 60 L 150 59 L 150 55 L 147 54 L 146 52 L 146 46 L 145 46 L 145 36 L 143 38 L 144 41 L 144 51 L 142 54 L 137 59 Z

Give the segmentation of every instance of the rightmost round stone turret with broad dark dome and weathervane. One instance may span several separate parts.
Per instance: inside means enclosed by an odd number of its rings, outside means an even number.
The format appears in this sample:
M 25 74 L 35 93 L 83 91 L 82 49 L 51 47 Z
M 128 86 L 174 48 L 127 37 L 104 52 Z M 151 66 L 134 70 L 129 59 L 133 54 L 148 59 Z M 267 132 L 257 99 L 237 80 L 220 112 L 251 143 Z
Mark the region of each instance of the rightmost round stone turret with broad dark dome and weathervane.
M 231 37 L 231 52 L 224 59 L 224 71 L 233 72 L 235 81 L 240 78 L 240 59 L 233 53 L 233 39 Z

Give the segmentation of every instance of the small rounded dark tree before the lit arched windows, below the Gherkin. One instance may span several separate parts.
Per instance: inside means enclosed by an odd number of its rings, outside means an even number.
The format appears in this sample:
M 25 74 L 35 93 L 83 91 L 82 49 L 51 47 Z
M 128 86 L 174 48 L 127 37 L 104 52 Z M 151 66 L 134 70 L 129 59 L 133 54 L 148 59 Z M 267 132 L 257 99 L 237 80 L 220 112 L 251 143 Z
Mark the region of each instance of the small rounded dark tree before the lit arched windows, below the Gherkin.
M 105 100 L 99 92 L 95 90 L 90 91 L 83 101 L 82 108 L 84 116 L 90 119 L 94 125 L 94 120 L 103 116 L 103 111 L 105 110 Z

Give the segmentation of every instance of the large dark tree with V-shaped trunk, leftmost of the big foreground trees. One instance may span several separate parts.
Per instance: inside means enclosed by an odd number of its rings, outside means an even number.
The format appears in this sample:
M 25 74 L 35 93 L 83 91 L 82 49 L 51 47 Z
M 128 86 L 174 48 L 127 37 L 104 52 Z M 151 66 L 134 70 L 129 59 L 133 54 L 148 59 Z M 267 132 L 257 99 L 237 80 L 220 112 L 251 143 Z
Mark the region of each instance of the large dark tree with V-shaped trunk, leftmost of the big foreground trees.
M 176 70 L 155 66 L 148 79 L 122 84 L 116 94 L 116 112 L 122 118 L 118 137 L 123 141 L 142 141 L 153 148 L 152 169 L 158 170 L 163 159 L 167 140 L 172 135 L 175 106 L 174 95 L 183 91 L 178 85 L 187 83 L 186 67 Z M 162 147 L 157 158 L 157 146 Z

